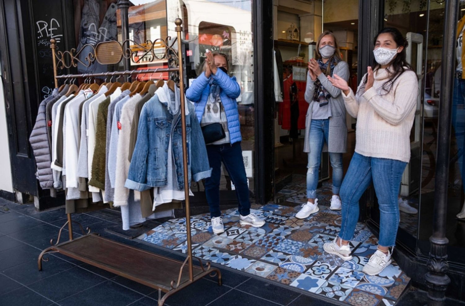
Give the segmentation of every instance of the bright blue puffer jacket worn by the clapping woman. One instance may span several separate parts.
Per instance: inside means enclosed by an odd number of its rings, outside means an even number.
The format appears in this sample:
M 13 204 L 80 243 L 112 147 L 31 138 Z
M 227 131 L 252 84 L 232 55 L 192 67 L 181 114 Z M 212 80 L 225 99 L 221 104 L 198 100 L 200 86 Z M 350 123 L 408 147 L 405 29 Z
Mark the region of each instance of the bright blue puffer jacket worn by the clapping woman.
M 237 110 L 236 102 L 236 98 L 240 95 L 240 86 L 236 82 L 236 77 L 229 77 L 221 69 L 218 69 L 216 74 L 212 73 L 210 78 L 213 78 L 221 88 L 219 97 L 226 111 L 231 144 L 237 143 L 242 140 L 240 135 L 239 111 Z M 195 103 L 195 114 L 197 115 L 197 119 L 199 119 L 199 123 L 200 120 L 202 120 L 206 101 L 210 94 L 210 85 L 208 84 L 210 78 L 207 78 L 205 72 L 202 72 L 186 91 L 186 97 Z

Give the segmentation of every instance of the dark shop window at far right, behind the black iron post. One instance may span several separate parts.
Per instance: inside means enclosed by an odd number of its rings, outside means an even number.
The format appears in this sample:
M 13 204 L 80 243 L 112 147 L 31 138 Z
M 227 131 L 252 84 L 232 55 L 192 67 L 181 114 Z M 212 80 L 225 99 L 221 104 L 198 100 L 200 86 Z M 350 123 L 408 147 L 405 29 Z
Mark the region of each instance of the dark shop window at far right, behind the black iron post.
M 432 234 L 432 208 L 434 205 L 434 182 L 436 174 L 436 151 L 438 143 L 438 114 L 441 86 L 441 58 L 444 31 L 445 3 L 430 1 L 427 62 L 425 77 L 425 102 L 423 103 L 423 155 L 422 184 L 419 222 L 419 249 L 428 255 L 429 237 Z M 456 69 L 452 100 L 452 133 L 449 163 L 449 189 L 447 198 L 446 237 L 448 260 L 465 263 L 465 214 L 464 214 L 464 135 L 465 135 L 465 86 L 462 83 L 462 33 L 465 23 L 465 5 L 460 2 L 457 25 Z

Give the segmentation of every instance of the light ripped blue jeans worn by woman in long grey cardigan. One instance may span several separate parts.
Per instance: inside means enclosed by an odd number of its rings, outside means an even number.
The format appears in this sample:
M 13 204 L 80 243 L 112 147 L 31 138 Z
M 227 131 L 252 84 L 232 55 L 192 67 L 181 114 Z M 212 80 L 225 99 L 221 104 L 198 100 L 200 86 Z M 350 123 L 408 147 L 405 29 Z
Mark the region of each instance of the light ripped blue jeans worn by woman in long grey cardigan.
M 329 119 L 312 120 L 310 124 L 310 153 L 308 153 L 307 165 L 307 198 L 315 199 L 317 197 L 318 170 L 321 163 L 321 152 L 323 145 L 328 143 L 329 136 Z M 342 153 L 329 152 L 329 160 L 332 167 L 332 193 L 339 194 L 342 183 Z

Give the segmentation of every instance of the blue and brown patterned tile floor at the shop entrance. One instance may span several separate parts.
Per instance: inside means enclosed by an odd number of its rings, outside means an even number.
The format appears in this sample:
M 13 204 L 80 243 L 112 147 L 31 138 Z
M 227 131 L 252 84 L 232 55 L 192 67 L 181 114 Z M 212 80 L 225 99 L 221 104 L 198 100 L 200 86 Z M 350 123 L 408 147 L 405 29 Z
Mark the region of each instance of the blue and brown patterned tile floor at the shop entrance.
M 262 228 L 241 227 L 237 210 L 229 209 L 222 215 L 226 231 L 215 235 L 209 214 L 193 216 L 194 256 L 349 305 L 394 305 L 410 279 L 395 262 L 378 276 L 362 272 L 377 243 L 362 223 L 351 241 L 353 260 L 326 254 L 323 244 L 339 232 L 340 212 L 328 209 L 331 191 L 325 183 L 319 213 L 305 220 L 293 217 L 305 198 L 299 180 L 280 191 L 289 206 L 270 203 L 253 209 L 266 220 Z M 186 253 L 186 219 L 166 221 L 139 239 Z

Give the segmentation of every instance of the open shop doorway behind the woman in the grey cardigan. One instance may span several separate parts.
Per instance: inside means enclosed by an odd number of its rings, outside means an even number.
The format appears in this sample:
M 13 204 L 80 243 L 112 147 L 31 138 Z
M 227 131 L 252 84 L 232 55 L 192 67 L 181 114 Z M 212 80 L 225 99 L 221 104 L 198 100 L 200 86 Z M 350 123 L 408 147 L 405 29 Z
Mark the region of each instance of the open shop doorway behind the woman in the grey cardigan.
M 294 7 L 294 1 L 274 3 L 274 56 L 275 56 L 275 201 L 294 206 L 306 202 L 308 154 L 304 152 L 307 111 L 305 100 L 307 63 L 316 57 L 316 43 L 323 31 L 332 31 L 342 60 L 350 67 L 349 82 L 357 88 L 357 45 L 359 1 L 340 5 L 340 1 L 303 1 Z M 355 119 L 347 115 L 347 152 L 343 157 L 347 170 L 355 148 Z M 308 128 L 308 127 L 307 127 Z M 310 149 L 311 150 L 311 149 Z M 329 205 L 331 199 L 332 169 L 327 152 L 321 154 L 317 197 L 319 204 Z

